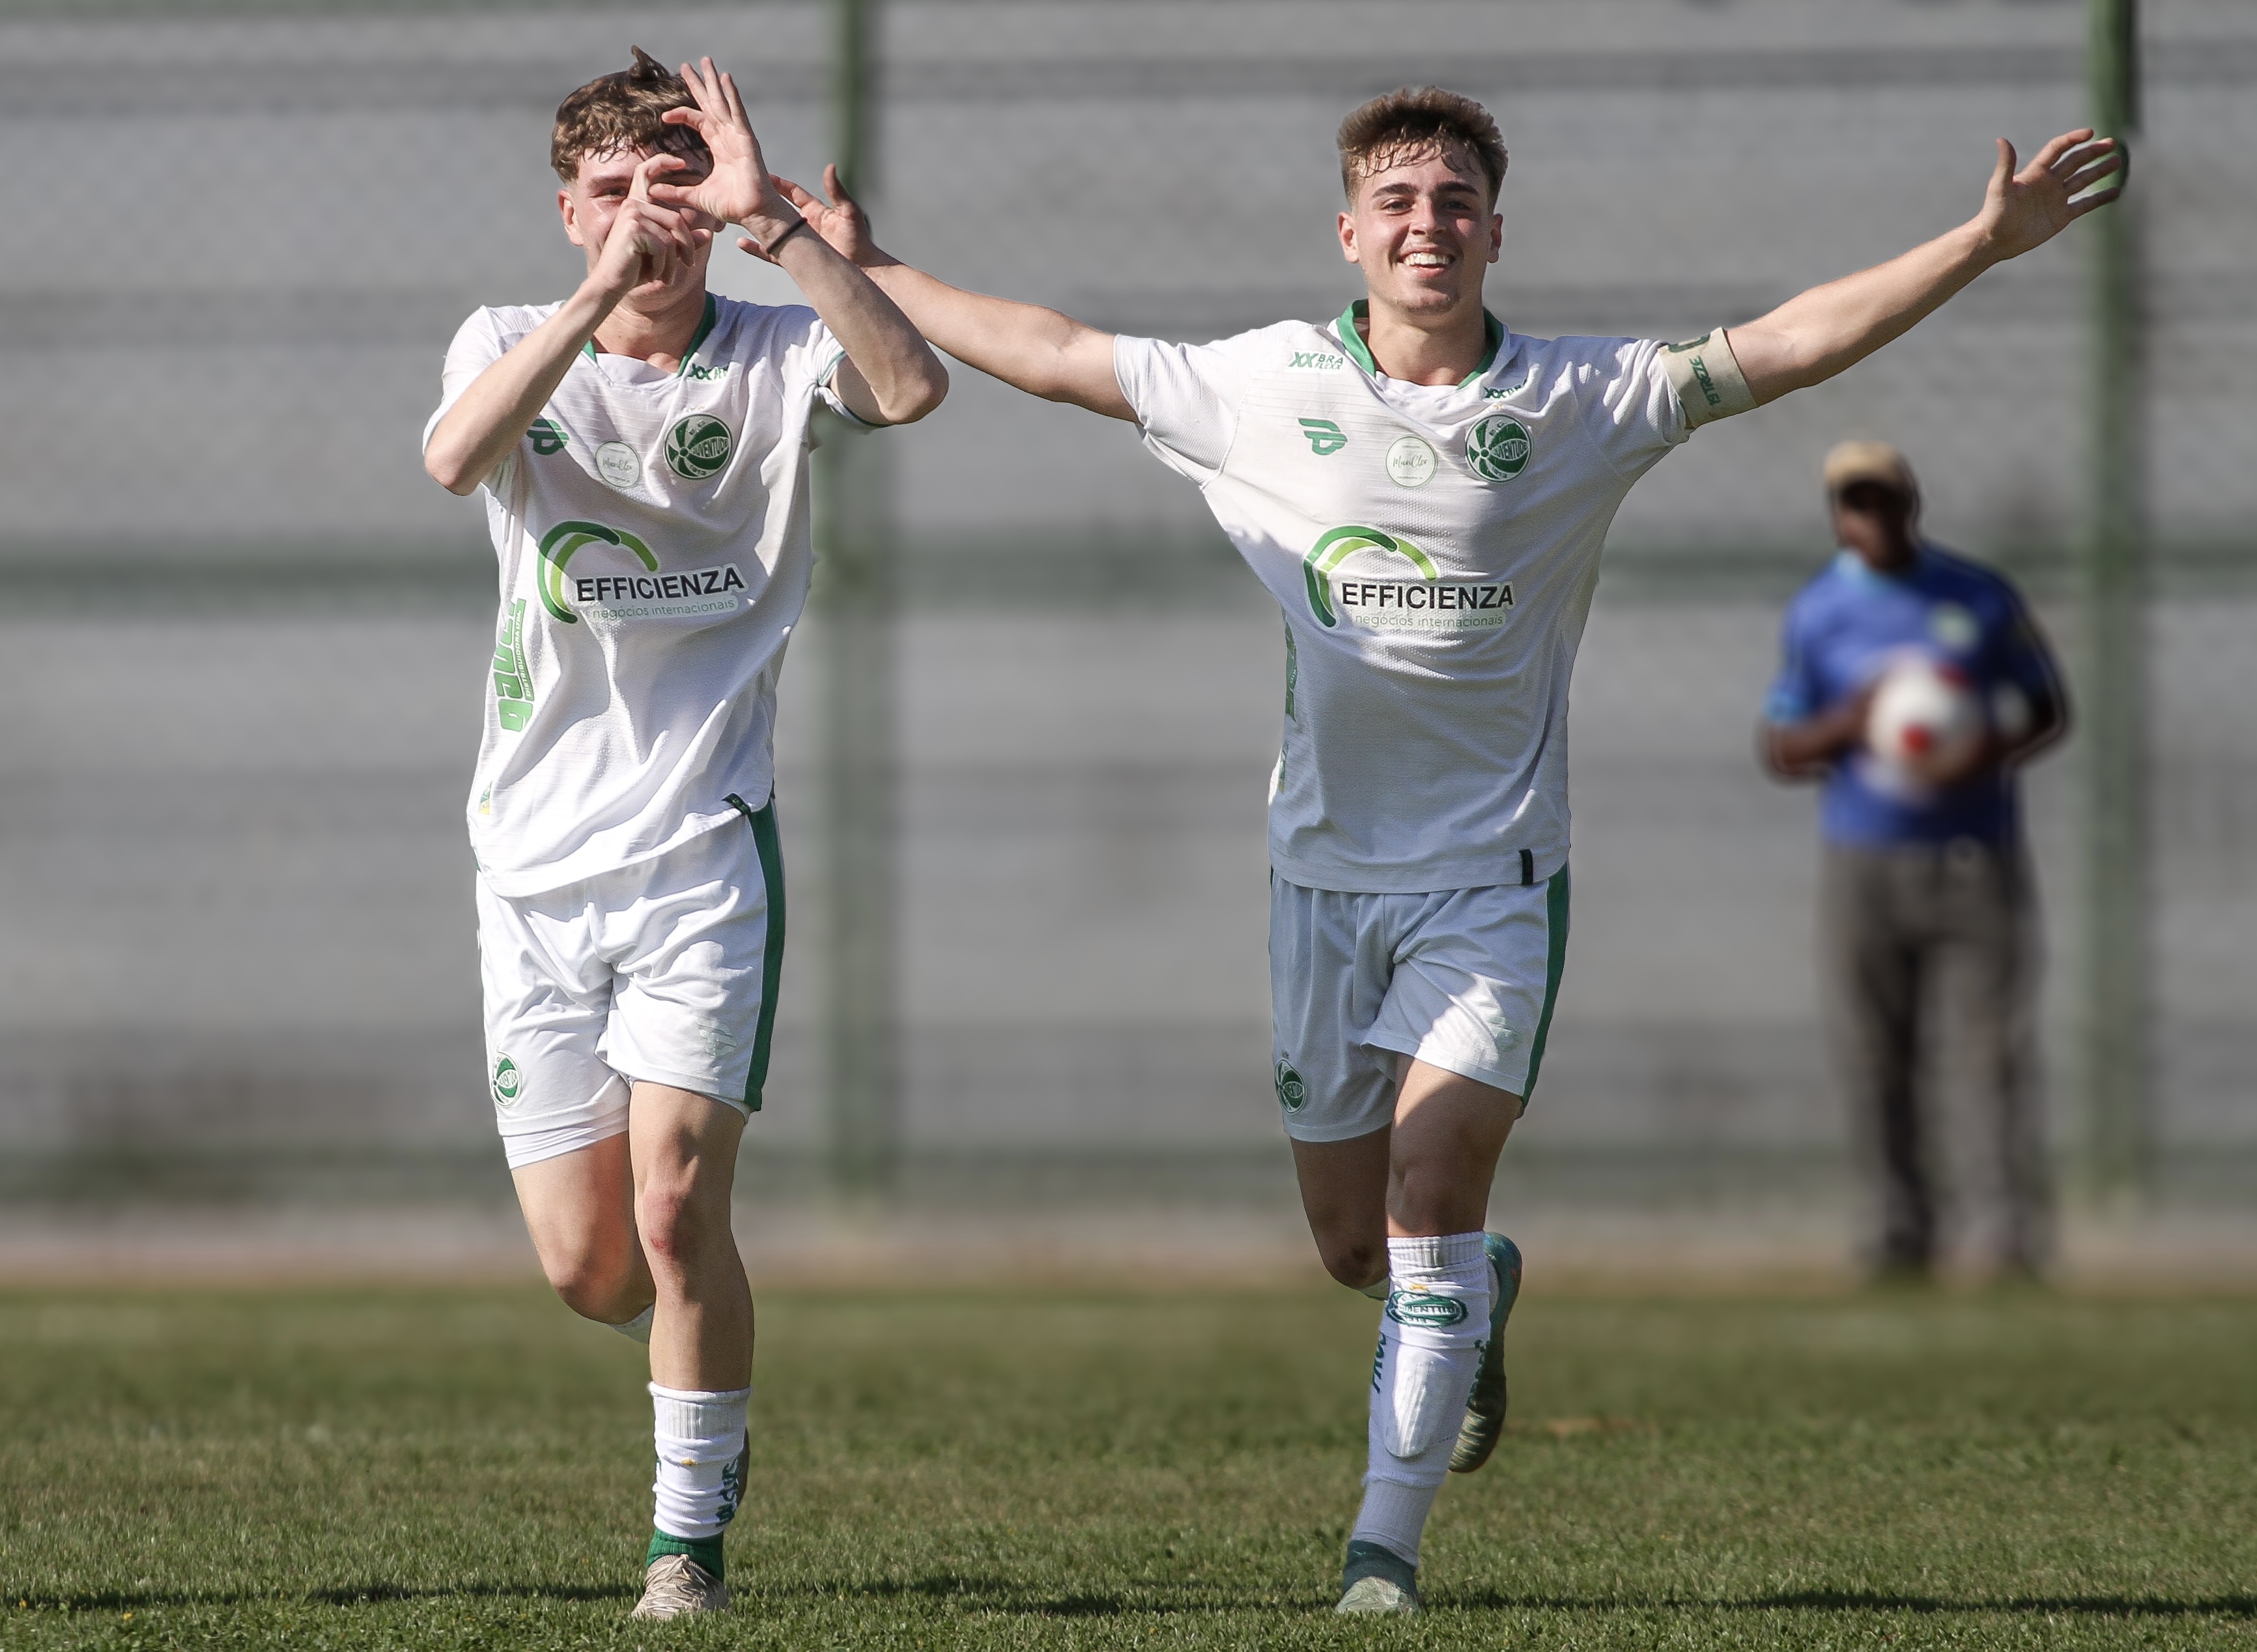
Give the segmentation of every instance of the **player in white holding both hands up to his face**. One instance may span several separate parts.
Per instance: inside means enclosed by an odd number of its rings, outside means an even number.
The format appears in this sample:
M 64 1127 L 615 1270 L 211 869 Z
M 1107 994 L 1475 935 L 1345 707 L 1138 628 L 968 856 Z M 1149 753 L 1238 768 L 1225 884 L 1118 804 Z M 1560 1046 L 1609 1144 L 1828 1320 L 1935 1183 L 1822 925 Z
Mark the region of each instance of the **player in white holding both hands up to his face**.
M 424 467 L 485 490 L 501 557 L 472 781 L 494 1117 L 557 1295 L 650 1343 L 657 1512 L 639 1618 L 727 1607 L 752 1293 L 729 1232 L 783 961 L 772 731 L 808 596 L 815 404 L 939 406 L 901 309 L 776 192 L 704 59 L 589 81 L 551 160 L 587 280 L 481 309 Z M 706 291 L 736 223 L 813 309 Z

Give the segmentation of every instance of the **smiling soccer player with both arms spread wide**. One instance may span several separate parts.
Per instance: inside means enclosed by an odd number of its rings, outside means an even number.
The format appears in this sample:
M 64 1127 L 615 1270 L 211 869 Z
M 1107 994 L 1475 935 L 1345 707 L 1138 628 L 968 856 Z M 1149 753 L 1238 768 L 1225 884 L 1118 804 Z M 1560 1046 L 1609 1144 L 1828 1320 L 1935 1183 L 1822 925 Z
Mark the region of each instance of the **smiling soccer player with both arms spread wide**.
M 1368 296 L 1212 345 L 966 293 L 880 253 L 835 174 L 828 205 L 785 192 L 948 354 L 1133 420 L 1284 609 L 1277 1101 L 1325 1266 L 1386 1295 L 1341 1609 L 1415 1611 L 1444 1467 L 1503 1431 L 1519 1253 L 1483 1221 L 1566 955 L 1566 691 L 1607 524 L 1700 424 L 1830 379 L 2115 199 L 2074 196 L 2122 158 L 2074 131 L 2018 172 L 2002 140 L 1961 228 L 1663 345 L 1483 309 L 1505 147 L 1472 99 L 1390 93 L 1338 149 Z

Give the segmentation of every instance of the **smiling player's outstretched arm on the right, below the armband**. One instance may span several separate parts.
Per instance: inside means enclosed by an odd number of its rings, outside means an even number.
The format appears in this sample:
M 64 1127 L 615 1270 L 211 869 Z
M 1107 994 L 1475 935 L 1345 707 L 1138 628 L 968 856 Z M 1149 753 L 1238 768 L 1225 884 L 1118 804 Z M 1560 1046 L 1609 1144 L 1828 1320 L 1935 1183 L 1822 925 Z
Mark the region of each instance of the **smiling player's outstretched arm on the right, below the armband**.
M 2054 239 L 2072 219 L 2108 205 L 2124 185 L 2076 199 L 2124 169 L 2115 138 L 2067 131 L 2016 172 L 2013 144 L 1997 140 L 1997 169 L 1982 212 L 1887 264 L 1790 298 L 1727 339 L 1756 402 L 1824 384 L 1943 305 L 1993 264 Z

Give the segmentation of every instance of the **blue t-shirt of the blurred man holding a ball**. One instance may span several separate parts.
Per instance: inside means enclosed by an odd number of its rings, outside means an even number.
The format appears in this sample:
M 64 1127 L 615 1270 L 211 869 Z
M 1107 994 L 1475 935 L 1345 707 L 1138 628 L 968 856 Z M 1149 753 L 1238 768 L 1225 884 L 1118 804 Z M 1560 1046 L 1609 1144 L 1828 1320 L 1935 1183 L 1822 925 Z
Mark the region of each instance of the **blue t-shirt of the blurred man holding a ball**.
M 2063 702 L 2054 654 L 2016 589 L 1991 569 L 1932 544 L 1903 573 L 1876 573 L 1855 551 L 1837 555 L 1797 591 L 1781 625 L 1772 722 L 1801 722 L 1864 688 L 1905 652 L 1959 666 L 1993 722 L 2020 709 L 2045 715 Z M 2016 779 L 1984 767 L 1948 788 L 1907 783 L 1869 752 L 1835 763 L 1819 806 L 1830 844 L 1878 849 L 1975 837 L 2009 844 L 2020 833 Z

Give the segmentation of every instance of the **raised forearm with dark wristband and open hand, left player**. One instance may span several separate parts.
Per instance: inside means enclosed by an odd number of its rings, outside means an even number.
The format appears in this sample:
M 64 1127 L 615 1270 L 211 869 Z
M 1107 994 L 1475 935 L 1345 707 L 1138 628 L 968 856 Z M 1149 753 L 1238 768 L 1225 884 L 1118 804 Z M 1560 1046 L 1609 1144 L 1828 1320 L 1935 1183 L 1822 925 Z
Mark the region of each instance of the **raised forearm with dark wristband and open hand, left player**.
M 846 350 L 835 388 L 840 399 L 869 424 L 907 424 L 925 418 L 948 395 L 948 368 L 939 363 L 910 318 L 869 278 L 840 257 L 819 235 L 792 235 L 799 212 L 776 190 L 752 135 L 736 79 L 700 59 L 682 65 L 695 108 L 668 108 L 666 122 L 693 129 L 713 153 L 713 169 L 695 185 L 655 183 L 650 199 L 684 205 L 752 232 L 738 241 L 747 253 L 776 264 L 815 305 L 815 314 Z M 668 156 L 664 172 L 682 169 Z M 810 230 L 817 226 L 808 226 Z M 788 237 L 788 239 L 785 239 Z M 770 255 L 767 248 L 774 248 Z

